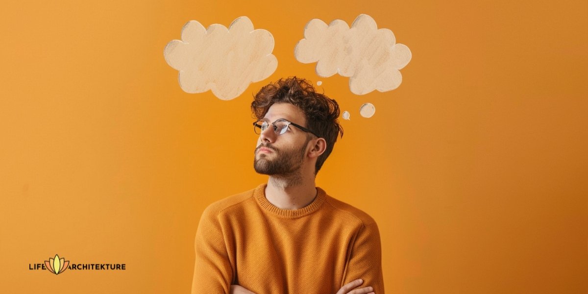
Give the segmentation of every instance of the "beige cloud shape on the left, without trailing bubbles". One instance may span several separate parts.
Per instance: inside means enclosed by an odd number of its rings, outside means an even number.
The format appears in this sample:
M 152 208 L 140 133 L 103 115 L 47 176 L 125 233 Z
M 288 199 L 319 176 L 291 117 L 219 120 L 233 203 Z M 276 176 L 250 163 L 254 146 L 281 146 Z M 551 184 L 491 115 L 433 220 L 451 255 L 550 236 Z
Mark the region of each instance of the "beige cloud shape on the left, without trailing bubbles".
M 222 100 L 241 95 L 250 83 L 268 78 L 278 68 L 272 54 L 273 36 L 253 29 L 246 16 L 227 29 L 213 24 L 207 29 L 197 21 L 182 28 L 182 41 L 173 40 L 163 49 L 168 64 L 179 71 L 183 91 L 212 93 Z

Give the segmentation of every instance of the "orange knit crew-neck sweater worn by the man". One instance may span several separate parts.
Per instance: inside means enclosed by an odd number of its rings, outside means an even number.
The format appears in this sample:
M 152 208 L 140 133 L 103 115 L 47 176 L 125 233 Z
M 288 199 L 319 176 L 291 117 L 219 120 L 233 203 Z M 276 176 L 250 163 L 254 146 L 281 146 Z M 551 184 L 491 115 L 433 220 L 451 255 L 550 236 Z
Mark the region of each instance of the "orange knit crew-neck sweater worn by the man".
M 196 232 L 192 294 L 335 294 L 363 279 L 384 294 L 380 235 L 365 212 L 317 187 L 310 205 L 279 209 L 266 184 L 212 203 Z

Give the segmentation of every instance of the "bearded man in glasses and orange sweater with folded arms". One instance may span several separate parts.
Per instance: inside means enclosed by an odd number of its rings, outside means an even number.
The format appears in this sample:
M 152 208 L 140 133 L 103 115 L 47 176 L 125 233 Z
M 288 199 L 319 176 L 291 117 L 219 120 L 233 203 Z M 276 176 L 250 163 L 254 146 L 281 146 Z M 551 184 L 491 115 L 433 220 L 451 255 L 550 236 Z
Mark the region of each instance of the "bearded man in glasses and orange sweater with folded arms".
M 375 221 L 315 186 L 343 136 L 337 102 L 293 77 L 263 87 L 251 109 L 253 166 L 268 183 L 202 213 L 192 293 L 384 294 Z

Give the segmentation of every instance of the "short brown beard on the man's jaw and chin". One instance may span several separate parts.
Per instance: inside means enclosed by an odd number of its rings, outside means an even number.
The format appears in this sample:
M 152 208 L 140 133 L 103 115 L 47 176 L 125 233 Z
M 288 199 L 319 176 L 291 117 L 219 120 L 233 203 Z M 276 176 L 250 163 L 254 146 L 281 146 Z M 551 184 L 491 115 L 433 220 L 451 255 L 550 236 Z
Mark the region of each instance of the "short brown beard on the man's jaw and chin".
M 262 144 L 255 149 L 255 153 L 261 147 L 269 148 L 273 152 L 270 154 L 259 153 L 259 155 L 255 155 L 253 168 L 257 173 L 269 176 L 291 176 L 299 173 L 304 160 L 306 144 L 302 145 L 300 149 L 289 150 L 278 150 L 273 146 Z M 270 159 L 269 155 L 274 158 Z

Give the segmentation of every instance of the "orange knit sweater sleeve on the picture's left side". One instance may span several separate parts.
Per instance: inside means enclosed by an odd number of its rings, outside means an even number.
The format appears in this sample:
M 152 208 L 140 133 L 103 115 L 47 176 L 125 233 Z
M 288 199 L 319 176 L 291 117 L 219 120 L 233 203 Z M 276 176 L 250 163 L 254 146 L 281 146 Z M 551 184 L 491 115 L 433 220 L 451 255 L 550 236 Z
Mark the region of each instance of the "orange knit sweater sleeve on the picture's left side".
M 192 294 L 229 294 L 233 270 L 229 262 L 225 236 L 217 213 L 209 206 L 202 213 L 196 230 L 196 262 L 192 280 Z

